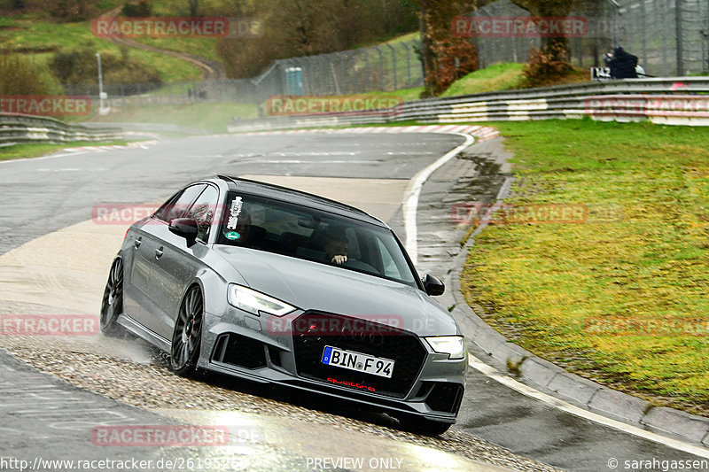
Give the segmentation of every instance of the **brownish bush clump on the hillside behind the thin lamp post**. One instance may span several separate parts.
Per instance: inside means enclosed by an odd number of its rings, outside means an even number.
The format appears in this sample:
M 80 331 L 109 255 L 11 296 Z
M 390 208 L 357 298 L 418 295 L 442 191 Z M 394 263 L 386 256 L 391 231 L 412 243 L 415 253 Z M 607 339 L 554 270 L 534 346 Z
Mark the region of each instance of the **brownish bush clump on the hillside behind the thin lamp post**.
M 96 83 L 98 64 L 96 51 L 90 48 L 58 52 L 50 61 L 51 73 L 61 83 Z M 141 82 L 160 84 L 160 74 L 135 58 L 127 50 L 121 57 L 110 52 L 101 53 L 101 69 L 104 83 Z

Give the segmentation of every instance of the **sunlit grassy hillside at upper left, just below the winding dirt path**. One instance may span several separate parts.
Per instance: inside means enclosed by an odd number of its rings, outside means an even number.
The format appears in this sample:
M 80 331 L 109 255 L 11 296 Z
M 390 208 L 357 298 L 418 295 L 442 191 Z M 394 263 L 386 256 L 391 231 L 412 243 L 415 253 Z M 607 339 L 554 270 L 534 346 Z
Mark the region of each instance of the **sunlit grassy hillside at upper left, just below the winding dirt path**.
M 17 29 L 4 30 L 0 49 L 33 52 L 39 61 L 48 61 L 54 51 L 71 50 L 89 46 L 97 51 L 110 51 L 120 56 L 121 48 L 91 32 L 90 22 L 55 23 L 40 19 L 0 19 L 0 26 Z M 196 66 L 163 54 L 129 49 L 132 58 L 138 58 L 160 72 L 163 81 L 189 81 L 199 79 Z

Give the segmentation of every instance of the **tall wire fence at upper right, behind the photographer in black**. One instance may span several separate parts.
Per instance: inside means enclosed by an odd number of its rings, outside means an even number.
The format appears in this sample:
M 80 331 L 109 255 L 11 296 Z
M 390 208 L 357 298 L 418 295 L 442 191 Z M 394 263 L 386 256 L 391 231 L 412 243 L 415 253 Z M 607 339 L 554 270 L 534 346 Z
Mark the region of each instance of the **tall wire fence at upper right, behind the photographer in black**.
M 529 12 L 500 0 L 473 17 L 526 17 Z M 655 76 L 709 73 L 709 2 L 707 0 L 592 0 L 571 13 L 588 22 L 588 33 L 569 38 L 575 66 L 603 66 L 603 55 L 616 46 L 635 54 L 645 72 Z M 480 67 L 526 62 L 539 37 L 477 37 Z

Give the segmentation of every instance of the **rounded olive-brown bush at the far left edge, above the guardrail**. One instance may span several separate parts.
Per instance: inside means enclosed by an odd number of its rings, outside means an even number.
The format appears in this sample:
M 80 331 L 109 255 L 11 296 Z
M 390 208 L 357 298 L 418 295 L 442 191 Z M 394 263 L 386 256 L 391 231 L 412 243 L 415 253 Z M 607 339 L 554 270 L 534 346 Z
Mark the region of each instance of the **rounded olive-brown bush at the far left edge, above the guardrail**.
M 64 90 L 46 67 L 19 55 L 0 55 L 0 96 L 56 95 Z

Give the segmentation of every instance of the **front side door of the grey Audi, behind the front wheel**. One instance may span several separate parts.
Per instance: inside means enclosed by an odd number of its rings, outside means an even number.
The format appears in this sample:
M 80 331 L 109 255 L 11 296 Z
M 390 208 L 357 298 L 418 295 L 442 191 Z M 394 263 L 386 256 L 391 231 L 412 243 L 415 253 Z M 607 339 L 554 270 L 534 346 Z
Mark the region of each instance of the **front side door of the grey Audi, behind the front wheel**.
M 188 285 L 194 280 L 208 251 L 209 230 L 219 200 L 219 190 L 207 185 L 195 202 L 183 214 L 198 221 L 198 237 L 188 242 L 172 233 L 167 225 L 156 228 L 161 244 L 152 265 L 151 284 L 156 289 L 154 301 L 159 309 L 157 333 L 171 339 L 175 319 Z

